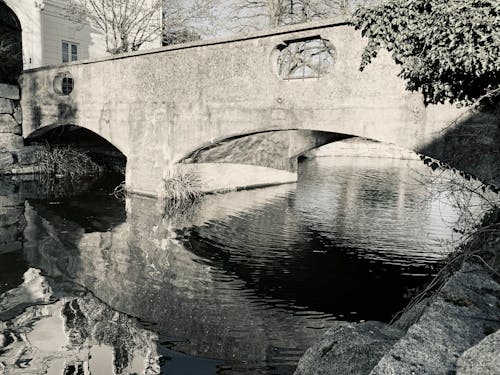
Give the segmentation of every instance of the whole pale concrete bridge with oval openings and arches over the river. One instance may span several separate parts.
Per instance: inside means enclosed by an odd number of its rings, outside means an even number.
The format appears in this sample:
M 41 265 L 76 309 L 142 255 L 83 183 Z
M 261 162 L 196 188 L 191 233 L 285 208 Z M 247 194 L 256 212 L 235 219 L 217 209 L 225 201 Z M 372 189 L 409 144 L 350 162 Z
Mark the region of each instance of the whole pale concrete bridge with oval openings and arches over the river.
M 360 72 L 365 43 L 327 20 L 28 70 L 23 134 L 87 128 L 146 195 L 187 169 L 207 191 L 295 181 L 298 155 L 350 136 L 442 158 L 430 145 L 461 112 L 405 91 L 387 53 Z

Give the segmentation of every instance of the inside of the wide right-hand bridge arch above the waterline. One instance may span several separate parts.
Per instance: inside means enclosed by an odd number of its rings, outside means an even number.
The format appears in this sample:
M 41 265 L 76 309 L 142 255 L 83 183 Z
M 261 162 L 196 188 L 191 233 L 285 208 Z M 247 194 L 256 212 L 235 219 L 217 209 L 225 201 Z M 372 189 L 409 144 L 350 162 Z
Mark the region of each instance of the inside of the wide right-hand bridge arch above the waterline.
M 387 142 L 295 128 L 266 129 L 217 139 L 180 158 L 177 167 L 197 173 L 209 192 L 293 183 L 298 181 L 301 156 L 310 156 L 307 152 L 318 147 L 351 138 L 366 140 L 365 154 L 418 159 L 412 150 Z M 374 144 L 370 145 L 370 141 Z M 363 148 L 359 143 L 356 146 L 358 150 Z

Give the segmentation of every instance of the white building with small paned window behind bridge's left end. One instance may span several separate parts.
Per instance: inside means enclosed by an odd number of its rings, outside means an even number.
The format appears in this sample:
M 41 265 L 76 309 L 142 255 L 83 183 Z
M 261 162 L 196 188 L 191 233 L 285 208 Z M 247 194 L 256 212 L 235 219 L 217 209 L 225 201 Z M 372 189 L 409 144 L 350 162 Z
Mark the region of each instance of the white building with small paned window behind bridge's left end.
M 23 66 L 31 69 L 108 55 L 104 36 L 67 16 L 67 0 L 0 0 L 17 16 L 22 29 Z M 159 47 L 160 37 L 144 48 Z

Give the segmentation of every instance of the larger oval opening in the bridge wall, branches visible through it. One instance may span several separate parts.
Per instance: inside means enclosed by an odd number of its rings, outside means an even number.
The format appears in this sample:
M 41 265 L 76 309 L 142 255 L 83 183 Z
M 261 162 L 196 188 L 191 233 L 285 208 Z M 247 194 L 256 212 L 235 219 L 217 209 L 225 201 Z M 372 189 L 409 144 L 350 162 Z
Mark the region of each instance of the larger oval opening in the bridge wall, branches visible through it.
M 319 36 L 289 40 L 280 47 L 278 74 L 282 79 L 319 78 L 335 63 L 335 48 Z

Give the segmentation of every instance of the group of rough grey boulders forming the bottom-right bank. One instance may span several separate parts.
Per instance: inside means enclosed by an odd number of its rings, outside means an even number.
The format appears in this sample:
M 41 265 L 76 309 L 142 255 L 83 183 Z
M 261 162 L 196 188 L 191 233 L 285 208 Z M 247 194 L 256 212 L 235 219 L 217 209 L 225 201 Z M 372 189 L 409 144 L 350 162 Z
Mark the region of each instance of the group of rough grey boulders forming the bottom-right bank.
M 500 238 L 489 245 L 498 254 Z M 306 351 L 295 375 L 500 374 L 500 283 L 481 263 L 464 263 L 391 325 L 331 328 Z

